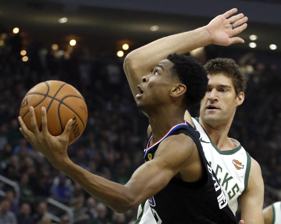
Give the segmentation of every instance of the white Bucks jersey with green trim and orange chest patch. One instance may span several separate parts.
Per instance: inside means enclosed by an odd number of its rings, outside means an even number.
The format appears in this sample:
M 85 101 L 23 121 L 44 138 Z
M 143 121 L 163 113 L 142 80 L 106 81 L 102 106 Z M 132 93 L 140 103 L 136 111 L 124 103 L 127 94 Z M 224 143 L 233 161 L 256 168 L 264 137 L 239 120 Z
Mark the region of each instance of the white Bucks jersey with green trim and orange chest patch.
M 199 124 L 198 118 L 192 117 L 192 122 L 194 128 L 200 133 L 200 142 L 205 157 L 224 190 L 229 208 L 235 215 L 238 207 L 238 197 L 248 186 L 251 157 L 241 144 L 233 138 L 230 139 L 237 147 L 232 150 L 220 151 Z M 136 224 L 148 223 L 157 224 L 147 200 L 138 207 Z

